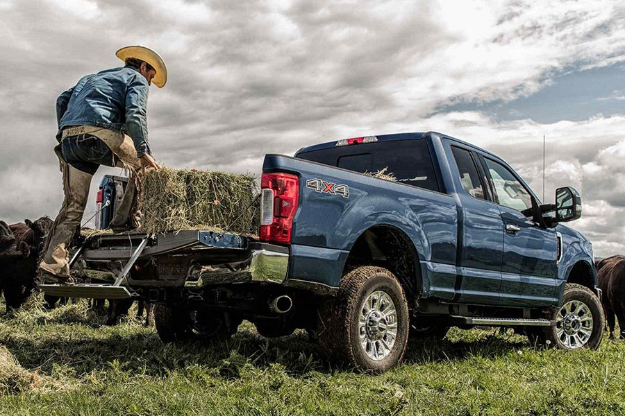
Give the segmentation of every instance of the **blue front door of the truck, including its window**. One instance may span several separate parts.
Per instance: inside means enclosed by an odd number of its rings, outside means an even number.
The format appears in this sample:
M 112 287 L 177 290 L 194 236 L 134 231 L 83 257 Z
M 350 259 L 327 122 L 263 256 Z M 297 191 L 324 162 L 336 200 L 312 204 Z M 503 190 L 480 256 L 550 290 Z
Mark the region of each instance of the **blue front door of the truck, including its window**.
M 532 207 L 531 193 L 510 168 L 488 156 L 482 160 L 503 222 L 500 303 L 557 304 L 556 230 L 540 227 L 522 214 Z

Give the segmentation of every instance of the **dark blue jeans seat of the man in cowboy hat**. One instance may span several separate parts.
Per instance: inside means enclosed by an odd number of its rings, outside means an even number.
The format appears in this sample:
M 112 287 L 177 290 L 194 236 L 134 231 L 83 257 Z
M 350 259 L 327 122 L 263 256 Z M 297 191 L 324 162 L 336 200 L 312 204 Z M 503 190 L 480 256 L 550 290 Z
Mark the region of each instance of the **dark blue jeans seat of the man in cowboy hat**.
M 92 135 L 65 137 L 61 142 L 61 155 L 74 168 L 93 175 L 100 165 L 117 164 L 115 155 L 106 143 Z

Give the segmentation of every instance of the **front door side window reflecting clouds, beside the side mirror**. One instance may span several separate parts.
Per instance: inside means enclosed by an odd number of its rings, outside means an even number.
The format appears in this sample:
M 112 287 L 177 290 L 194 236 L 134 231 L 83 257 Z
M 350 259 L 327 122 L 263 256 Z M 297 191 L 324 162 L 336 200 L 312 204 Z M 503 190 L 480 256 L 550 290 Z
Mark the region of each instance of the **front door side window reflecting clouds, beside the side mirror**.
M 525 187 L 506 166 L 494 160 L 484 158 L 492 178 L 492 187 L 499 205 L 524 211 L 532 206 L 532 198 Z

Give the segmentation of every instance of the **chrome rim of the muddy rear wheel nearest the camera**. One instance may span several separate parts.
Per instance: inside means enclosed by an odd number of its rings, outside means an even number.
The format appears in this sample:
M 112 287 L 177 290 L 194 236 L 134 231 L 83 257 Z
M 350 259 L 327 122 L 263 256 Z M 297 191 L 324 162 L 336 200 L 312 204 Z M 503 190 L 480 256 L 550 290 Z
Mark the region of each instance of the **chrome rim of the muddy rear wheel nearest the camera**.
M 390 354 L 397 338 L 397 310 L 387 293 L 375 291 L 367 296 L 360 309 L 358 333 L 360 346 L 372 360 Z

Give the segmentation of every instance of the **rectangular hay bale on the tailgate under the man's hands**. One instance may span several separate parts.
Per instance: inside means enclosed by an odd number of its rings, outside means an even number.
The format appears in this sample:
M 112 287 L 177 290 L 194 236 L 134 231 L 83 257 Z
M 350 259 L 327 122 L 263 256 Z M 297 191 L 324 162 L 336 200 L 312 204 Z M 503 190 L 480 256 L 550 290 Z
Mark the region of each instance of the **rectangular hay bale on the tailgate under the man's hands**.
M 163 168 L 142 177 L 140 229 L 256 232 L 256 179 L 252 175 Z M 251 207 L 250 207 L 251 206 Z

